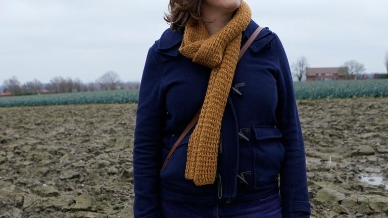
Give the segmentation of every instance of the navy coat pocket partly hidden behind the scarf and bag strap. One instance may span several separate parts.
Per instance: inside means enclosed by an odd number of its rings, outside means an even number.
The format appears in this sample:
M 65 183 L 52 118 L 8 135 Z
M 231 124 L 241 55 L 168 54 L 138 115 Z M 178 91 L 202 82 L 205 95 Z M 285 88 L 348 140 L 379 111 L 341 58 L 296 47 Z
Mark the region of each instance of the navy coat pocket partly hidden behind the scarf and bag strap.
M 173 136 L 170 140 L 170 148 L 174 145 L 178 136 Z M 164 169 L 160 172 L 162 186 L 172 191 L 183 194 L 202 195 L 203 187 L 196 186 L 192 180 L 184 177 L 187 160 L 187 144 L 190 134 L 187 134 L 179 143 L 174 153 L 171 155 Z

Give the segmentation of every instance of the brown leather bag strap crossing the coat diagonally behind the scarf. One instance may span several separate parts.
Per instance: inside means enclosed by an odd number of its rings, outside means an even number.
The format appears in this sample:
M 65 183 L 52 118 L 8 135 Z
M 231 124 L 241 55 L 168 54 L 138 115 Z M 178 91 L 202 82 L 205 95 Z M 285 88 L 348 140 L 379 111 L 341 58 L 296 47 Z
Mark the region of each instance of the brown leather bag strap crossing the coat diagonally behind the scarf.
M 237 62 L 241 59 L 241 57 L 243 57 L 244 53 L 248 50 L 248 48 L 251 46 L 252 42 L 255 40 L 255 38 L 259 35 L 259 33 L 261 32 L 261 30 L 263 29 L 263 27 L 258 27 L 255 32 L 252 33 L 252 35 L 249 37 L 249 39 L 247 40 L 247 42 L 244 44 L 243 48 L 241 48 L 239 54 L 238 54 L 238 60 Z M 186 126 L 186 128 L 183 130 L 183 132 L 180 134 L 179 138 L 176 140 L 176 142 L 174 143 L 174 145 L 172 146 L 170 152 L 168 153 L 166 159 L 164 160 L 163 162 L 163 165 L 162 165 L 162 169 L 164 169 L 164 167 L 166 166 L 168 160 L 170 159 L 170 157 L 172 156 L 172 154 L 174 153 L 175 149 L 178 147 L 179 143 L 183 140 L 183 138 L 187 135 L 188 132 L 190 132 L 190 129 L 192 128 L 192 126 L 194 126 L 196 124 L 196 122 L 198 121 L 198 119 L 200 118 L 200 113 L 201 113 L 201 109 L 196 113 L 196 115 L 191 119 L 191 121 L 188 123 L 188 125 Z

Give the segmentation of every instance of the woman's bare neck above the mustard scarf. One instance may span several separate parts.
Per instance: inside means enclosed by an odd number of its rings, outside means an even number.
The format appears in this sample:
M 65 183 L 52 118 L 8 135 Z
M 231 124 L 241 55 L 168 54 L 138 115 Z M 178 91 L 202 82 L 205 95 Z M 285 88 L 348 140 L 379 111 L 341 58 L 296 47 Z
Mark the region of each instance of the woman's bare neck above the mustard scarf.
M 201 12 L 201 18 L 204 20 L 204 25 L 208 30 L 209 35 L 213 35 L 220 31 L 230 21 L 230 18 L 233 15 L 233 11 L 222 11 L 213 8 L 206 3 L 202 5 Z

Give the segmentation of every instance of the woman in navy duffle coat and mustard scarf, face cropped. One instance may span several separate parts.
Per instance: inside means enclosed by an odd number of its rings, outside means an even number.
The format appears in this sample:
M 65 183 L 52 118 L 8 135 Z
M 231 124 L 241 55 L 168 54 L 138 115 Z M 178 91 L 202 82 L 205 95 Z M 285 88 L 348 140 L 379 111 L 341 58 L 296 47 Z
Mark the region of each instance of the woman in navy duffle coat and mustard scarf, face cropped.
M 264 28 L 237 62 L 258 27 L 247 3 L 169 6 L 171 27 L 150 48 L 140 83 L 135 217 L 309 217 L 302 130 L 279 38 Z

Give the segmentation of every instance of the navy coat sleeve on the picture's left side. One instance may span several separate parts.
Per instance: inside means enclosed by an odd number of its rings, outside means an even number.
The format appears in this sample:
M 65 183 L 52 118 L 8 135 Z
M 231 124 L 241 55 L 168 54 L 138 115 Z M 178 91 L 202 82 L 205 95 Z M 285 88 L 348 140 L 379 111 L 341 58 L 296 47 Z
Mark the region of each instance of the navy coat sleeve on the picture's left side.
M 159 218 L 159 169 L 165 101 L 162 72 L 150 48 L 140 81 L 133 143 L 135 218 Z

